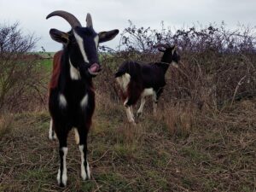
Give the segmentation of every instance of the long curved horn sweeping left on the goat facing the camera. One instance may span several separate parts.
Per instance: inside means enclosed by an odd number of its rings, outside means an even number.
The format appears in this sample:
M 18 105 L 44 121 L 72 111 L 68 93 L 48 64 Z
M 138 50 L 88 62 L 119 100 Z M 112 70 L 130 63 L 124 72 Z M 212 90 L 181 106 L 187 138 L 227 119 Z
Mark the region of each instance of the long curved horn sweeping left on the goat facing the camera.
M 68 13 L 67 11 L 56 10 L 50 13 L 49 15 L 47 15 L 46 20 L 52 16 L 62 17 L 63 19 L 67 20 L 67 22 L 70 24 L 70 26 L 72 26 L 72 28 L 76 26 L 81 26 L 81 23 L 79 22 L 79 20 L 74 15 Z

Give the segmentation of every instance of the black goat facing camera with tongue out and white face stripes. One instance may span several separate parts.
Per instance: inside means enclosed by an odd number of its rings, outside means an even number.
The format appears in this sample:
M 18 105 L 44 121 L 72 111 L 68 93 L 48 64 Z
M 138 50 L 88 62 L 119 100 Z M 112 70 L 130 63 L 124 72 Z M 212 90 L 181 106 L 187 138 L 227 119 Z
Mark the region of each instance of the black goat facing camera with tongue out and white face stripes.
M 87 25 L 82 27 L 74 15 L 66 11 L 54 11 L 46 19 L 60 16 L 72 26 L 70 32 L 50 29 L 50 37 L 63 44 L 54 56 L 54 69 L 49 84 L 49 113 L 51 115 L 49 138 L 59 140 L 60 168 L 57 181 L 67 185 L 67 135 L 75 127 L 76 142 L 81 152 L 81 177 L 90 178 L 86 158 L 87 134 L 95 108 L 92 77 L 101 71 L 98 60 L 98 44 L 113 39 L 118 30 L 96 33 L 90 14 Z

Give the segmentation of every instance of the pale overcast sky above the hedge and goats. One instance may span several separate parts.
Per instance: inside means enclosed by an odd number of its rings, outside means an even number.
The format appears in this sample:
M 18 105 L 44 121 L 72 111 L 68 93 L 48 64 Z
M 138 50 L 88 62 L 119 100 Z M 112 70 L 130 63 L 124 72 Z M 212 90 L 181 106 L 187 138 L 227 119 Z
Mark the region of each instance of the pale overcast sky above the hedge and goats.
M 54 10 L 66 10 L 75 15 L 82 25 L 85 16 L 92 15 L 96 32 L 119 29 L 129 26 L 131 20 L 136 26 L 160 28 L 165 26 L 192 26 L 200 22 L 207 25 L 220 24 L 222 20 L 228 27 L 241 24 L 256 26 L 256 0 L 0 0 L 0 23 L 20 22 L 23 32 L 35 33 L 46 51 L 61 49 L 61 44 L 49 37 L 49 29 L 57 28 L 63 32 L 70 30 L 66 20 L 46 15 Z M 105 43 L 113 49 L 119 44 L 119 36 Z

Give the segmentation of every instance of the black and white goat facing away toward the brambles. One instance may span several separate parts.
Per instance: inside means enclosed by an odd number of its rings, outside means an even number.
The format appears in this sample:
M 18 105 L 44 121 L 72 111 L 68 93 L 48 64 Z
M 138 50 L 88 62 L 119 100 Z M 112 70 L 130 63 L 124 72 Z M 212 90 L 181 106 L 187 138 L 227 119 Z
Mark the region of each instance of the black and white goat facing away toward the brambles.
M 145 96 L 153 96 L 154 115 L 156 114 L 157 102 L 166 85 L 166 71 L 170 65 L 176 66 L 180 60 L 176 46 L 158 44 L 154 47 L 164 52 L 160 62 L 143 64 L 137 61 L 125 61 L 115 73 L 115 79 L 124 100 L 126 115 L 132 124 L 135 124 L 135 120 L 131 107 L 141 99 L 137 116 L 143 113 Z

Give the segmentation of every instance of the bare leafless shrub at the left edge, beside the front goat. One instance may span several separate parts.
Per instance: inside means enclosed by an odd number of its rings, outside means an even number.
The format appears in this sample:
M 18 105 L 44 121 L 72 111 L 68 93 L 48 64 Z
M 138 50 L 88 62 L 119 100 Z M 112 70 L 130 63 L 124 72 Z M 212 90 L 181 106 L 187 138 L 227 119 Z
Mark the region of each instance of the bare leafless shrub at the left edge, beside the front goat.
M 23 111 L 37 106 L 43 96 L 39 55 L 34 55 L 38 38 L 24 35 L 19 23 L 0 25 L 0 111 Z

